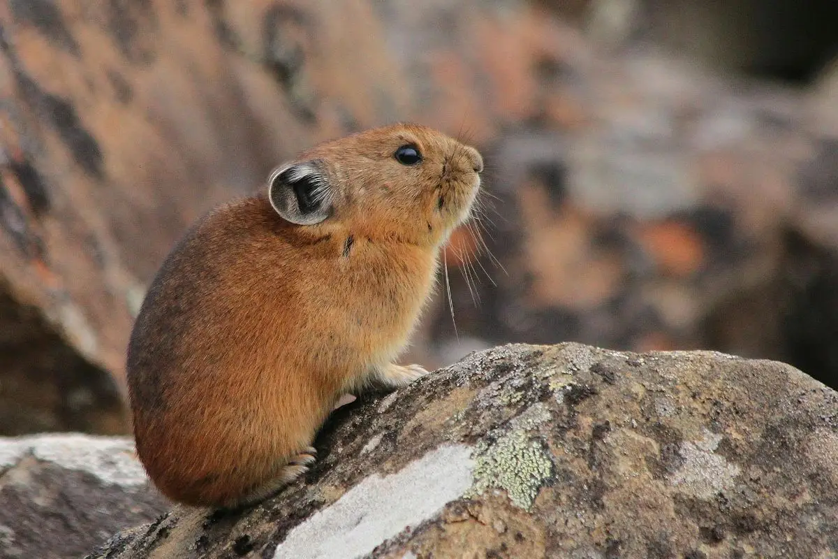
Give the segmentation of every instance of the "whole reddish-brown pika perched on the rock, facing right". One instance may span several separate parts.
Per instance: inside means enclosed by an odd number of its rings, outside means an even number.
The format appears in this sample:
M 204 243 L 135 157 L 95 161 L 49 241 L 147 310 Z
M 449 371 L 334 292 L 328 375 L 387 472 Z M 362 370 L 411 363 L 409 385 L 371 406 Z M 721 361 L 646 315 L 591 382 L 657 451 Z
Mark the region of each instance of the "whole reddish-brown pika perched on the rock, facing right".
M 427 373 L 395 360 L 482 170 L 441 132 L 380 127 L 319 144 L 192 226 L 127 349 L 137 454 L 164 495 L 264 499 L 308 470 L 340 396 Z

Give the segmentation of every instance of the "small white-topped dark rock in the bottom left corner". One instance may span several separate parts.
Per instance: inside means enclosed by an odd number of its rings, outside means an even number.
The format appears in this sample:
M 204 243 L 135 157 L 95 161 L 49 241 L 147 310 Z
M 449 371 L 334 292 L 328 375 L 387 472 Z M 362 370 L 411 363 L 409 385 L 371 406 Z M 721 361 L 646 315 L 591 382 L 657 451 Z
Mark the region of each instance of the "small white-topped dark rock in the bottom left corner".
M 77 557 L 167 508 L 125 438 L 0 438 L 0 559 Z

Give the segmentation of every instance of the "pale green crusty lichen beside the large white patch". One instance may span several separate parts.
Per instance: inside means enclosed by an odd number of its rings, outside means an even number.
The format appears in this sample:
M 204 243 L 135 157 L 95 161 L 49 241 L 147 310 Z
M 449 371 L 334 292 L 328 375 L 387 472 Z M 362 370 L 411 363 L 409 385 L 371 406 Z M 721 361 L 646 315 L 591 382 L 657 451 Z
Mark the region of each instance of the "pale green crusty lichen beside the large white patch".
M 480 443 L 475 454 L 474 484 L 467 497 L 489 488 L 504 489 L 513 505 L 530 510 L 552 473 L 550 455 L 523 430 L 507 433 L 494 444 Z

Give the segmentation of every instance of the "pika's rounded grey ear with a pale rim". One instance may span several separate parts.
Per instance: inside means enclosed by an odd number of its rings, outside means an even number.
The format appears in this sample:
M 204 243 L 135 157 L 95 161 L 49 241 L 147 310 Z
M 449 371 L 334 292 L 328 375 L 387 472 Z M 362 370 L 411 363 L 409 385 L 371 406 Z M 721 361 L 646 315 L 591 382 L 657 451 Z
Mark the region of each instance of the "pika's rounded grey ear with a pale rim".
M 275 169 L 267 195 L 277 214 L 297 225 L 314 225 L 332 215 L 332 185 L 317 159 Z

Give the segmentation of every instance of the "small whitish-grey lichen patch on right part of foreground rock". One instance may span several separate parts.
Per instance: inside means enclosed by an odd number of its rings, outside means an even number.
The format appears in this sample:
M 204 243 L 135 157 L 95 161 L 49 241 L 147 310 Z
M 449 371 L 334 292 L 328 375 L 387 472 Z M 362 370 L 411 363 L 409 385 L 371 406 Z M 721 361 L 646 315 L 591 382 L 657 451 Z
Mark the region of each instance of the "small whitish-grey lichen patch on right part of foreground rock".
M 709 499 L 719 491 L 730 489 L 740 469 L 715 453 L 721 441 L 722 435 L 705 431 L 703 440 L 681 443 L 684 464 L 670 475 L 670 483 L 699 499 Z

